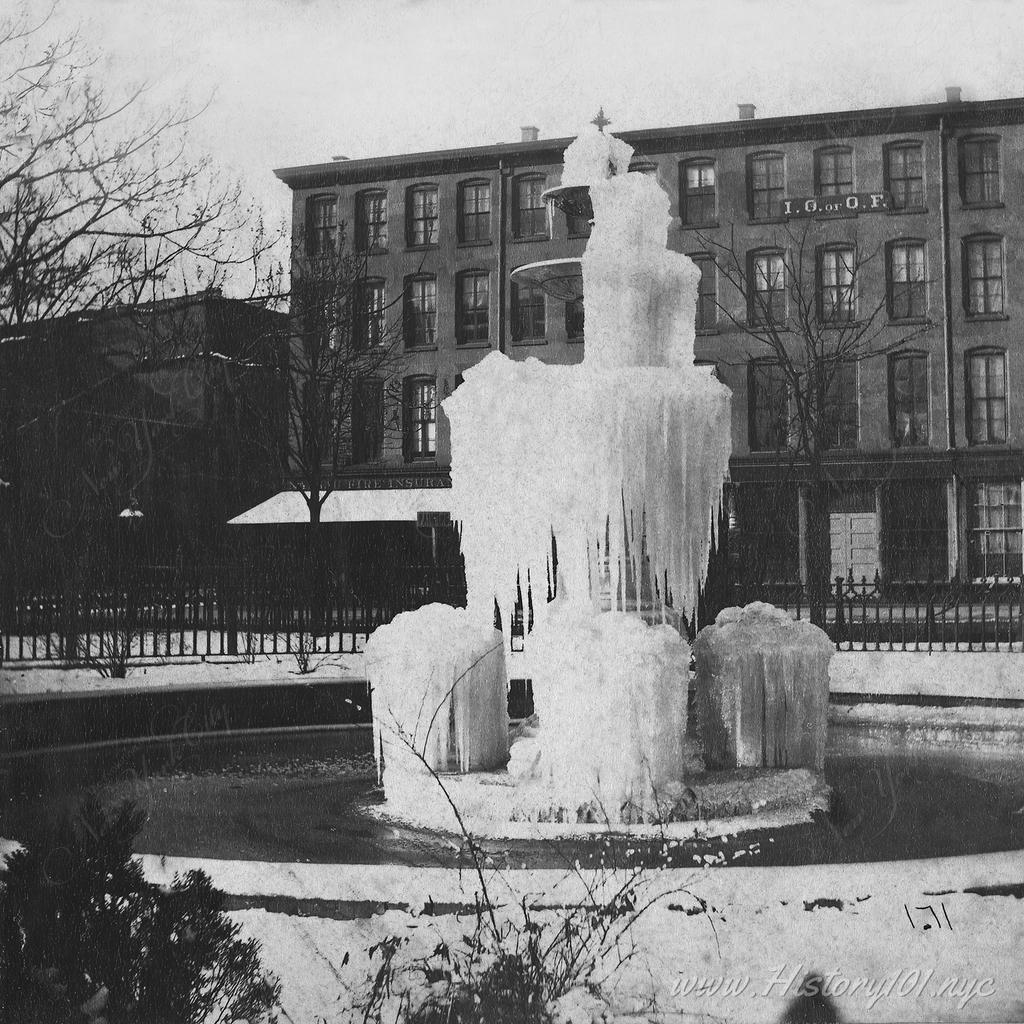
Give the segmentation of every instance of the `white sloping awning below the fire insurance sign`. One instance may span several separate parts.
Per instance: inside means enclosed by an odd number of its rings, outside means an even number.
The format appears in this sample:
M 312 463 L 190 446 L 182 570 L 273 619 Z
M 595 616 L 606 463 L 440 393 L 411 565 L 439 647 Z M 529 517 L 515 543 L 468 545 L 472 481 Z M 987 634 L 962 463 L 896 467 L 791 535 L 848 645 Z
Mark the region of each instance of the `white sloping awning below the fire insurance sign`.
M 394 487 L 335 490 L 321 510 L 321 522 L 416 522 L 419 512 L 451 512 L 451 487 Z M 228 525 L 309 522 L 297 490 L 282 490 L 228 520 Z

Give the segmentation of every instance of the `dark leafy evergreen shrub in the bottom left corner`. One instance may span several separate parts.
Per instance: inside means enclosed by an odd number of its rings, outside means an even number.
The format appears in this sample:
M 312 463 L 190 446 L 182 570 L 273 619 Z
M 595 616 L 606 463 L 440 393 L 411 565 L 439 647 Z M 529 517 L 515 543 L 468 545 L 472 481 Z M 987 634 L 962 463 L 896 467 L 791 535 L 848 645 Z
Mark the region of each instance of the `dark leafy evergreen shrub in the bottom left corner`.
M 280 985 L 202 871 L 146 882 L 144 813 L 87 797 L 0 881 L 0 1021 L 203 1024 L 275 1020 Z

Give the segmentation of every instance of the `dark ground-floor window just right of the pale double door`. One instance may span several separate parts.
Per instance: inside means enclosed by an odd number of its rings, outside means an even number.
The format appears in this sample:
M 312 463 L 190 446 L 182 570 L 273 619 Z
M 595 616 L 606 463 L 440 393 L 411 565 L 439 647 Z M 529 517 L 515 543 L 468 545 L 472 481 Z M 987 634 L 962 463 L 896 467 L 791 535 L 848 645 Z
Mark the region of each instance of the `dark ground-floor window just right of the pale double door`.
M 897 581 L 944 580 L 948 566 L 944 480 L 900 480 L 883 490 L 885 560 Z

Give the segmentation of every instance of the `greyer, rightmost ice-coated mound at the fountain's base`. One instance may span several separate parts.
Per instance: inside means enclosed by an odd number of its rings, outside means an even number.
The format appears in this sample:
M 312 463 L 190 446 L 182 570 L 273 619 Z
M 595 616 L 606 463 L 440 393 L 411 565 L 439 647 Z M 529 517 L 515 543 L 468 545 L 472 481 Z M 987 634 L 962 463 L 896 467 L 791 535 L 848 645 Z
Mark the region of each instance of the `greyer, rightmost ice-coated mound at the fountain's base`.
M 820 770 L 835 652 L 822 630 L 760 601 L 702 629 L 693 653 L 708 767 Z

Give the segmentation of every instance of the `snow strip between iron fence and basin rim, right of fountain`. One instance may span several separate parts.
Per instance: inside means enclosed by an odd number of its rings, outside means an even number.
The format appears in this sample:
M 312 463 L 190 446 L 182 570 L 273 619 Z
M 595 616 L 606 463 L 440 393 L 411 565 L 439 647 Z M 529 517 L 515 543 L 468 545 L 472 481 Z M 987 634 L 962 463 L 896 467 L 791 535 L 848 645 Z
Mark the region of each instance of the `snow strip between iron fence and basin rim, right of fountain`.
M 1024 700 L 1024 651 L 838 651 L 833 694 Z

